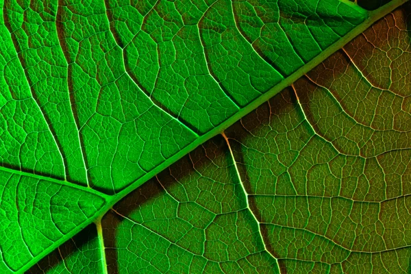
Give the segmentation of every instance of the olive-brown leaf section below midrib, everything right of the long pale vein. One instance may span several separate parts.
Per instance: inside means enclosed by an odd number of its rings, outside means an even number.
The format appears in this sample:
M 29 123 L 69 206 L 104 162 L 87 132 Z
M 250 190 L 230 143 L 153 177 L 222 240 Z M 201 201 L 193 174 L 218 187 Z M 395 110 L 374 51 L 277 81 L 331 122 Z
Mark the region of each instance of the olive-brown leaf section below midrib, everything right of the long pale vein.
M 408 273 L 410 5 L 227 130 L 284 271 Z

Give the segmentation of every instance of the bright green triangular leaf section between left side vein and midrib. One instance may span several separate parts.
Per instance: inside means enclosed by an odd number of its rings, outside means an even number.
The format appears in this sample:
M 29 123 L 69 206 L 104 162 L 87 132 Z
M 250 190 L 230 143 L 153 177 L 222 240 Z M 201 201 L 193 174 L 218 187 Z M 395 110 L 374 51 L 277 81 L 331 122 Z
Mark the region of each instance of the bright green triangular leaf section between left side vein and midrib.
M 95 215 L 105 200 L 95 194 L 0 171 L 0 272 L 14 273 Z

